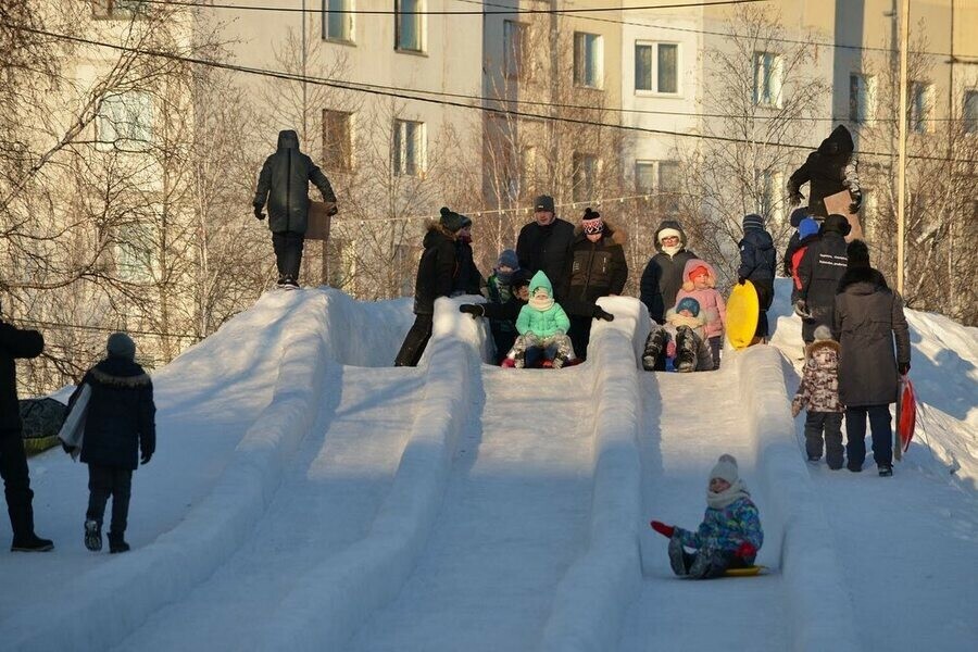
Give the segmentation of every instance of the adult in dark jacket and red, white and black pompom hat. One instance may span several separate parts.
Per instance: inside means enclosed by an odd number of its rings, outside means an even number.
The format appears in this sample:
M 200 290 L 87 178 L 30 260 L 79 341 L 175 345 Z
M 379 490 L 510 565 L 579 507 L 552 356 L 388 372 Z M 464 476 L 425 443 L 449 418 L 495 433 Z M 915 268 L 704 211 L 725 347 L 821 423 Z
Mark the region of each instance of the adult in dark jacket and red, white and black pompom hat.
M 570 317 L 570 342 L 580 360 L 588 356 L 591 340 L 591 319 L 611 321 L 614 317 L 597 301 L 599 297 L 620 294 L 628 280 L 625 260 L 624 228 L 615 228 L 590 208 L 585 210 L 580 225 L 574 229 L 574 243 L 563 274 L 566 288 L 561 306 Z

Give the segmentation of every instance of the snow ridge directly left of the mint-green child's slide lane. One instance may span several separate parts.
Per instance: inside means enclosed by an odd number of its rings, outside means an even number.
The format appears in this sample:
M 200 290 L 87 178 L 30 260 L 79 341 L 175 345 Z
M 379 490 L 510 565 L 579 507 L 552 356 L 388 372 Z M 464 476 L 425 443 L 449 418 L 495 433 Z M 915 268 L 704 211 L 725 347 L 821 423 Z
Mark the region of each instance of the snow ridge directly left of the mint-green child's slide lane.
M 423 358 L 425 398 L 417 410 L 390 493 L 369 534 L 312 568 L 267 618 L 259 650 L 336 650 L 397 597 L 438 515 L 456 436 L 472 403 L 486 325 L 439 299 Z

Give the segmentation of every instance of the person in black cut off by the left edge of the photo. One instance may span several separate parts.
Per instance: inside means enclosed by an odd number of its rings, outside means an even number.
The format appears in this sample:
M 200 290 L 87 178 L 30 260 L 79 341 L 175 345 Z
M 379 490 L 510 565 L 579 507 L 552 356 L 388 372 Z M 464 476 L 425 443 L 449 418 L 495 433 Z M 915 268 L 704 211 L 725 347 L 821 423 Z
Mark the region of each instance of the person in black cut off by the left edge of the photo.
M 0 321 L 0 476 L 7 497 L 7 512 L 13 530 L 10 549 L 47 552 L 54 548 L 49 539 L 34 532 L 34 491 L 21 430 L 17 402 L 16 359 L 37 358 L 45 350 L 45 338 L 37 330 L 21 330 Z

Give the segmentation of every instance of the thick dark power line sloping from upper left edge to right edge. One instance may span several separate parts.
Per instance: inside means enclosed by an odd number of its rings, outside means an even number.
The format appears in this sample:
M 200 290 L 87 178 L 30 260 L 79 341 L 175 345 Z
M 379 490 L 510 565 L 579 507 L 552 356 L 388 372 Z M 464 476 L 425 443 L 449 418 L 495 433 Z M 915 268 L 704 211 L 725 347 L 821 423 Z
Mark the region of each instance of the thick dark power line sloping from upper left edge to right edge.
M 106 43 L 104 41 L 96 41 L 96 40 L 86 39 L 86 38 L 82 38 L 82 37 L 77 37 L 77 36 L 57 34 L 57 33 L 47 32 L 43 29 L 36 29 L 33 27 L 26 27 L 23 25 L 14 25 L 14 24 L 10 24 L 10 23 L 0 23 L 0 25 L 3 25 L 4 27 L 11 28 L 11 29 L 20 29 L 23 32 L 38 34 L 41 36 L 50 37 L 50 38 L 67 40 L 67 41 L 73 41 L 73 42 L 79 42 L 79 43 L 86 43 L 86 45 L 97 46 L 97 47 L 103 47 L 103 48 L 108 48 L 108 49 L 112 49 L 112 50 L 120 50 L 120 51 L 124 51 L 124 52 L 134 52 L 134 53 L 138 53 L 138 54 L 146 54 L 148 57 L 158 57 L 161 59 L 167 59 L 167 60 L 172 60 L 172 61 L 180 61 L 180 62 L 185 62 L 185 63 L 192 63 L 192 64 L 202 65 L 202 66 L 235 71 L 235 72 L 240 72 L 240 73 L 246 73 L 246 74 L 251 74 L 251 75 L 256 75 L 256 76 L 265 76 L 265 77 L 272 77 L 272 78 L 277 78 L 277 79 L 285 79 L 288 82 L 300 82 L 300 83 L 313 84 L 313 85 L 317 85 L 317 86 L 326 86 L 329 88 L 337 88 L 340 90 L 363 92 L 363 93 L 367 93 L 367 95 L 375 95 L 375 96 L 381 96 L 381 97 L 391 97 L 391 98 L 403 99 L 403 100 L 414 100 L 416 102 L 425 102 L 425 103 L 438 104 L 438 105 L 442 105 L 442 106 L 455 106 L 455 108 L 460 108 L 460 109 L 484 111 L 487 113 L 494 113 L 494 114 L 501 114 L 501 115 L 512 115 L 512 116 L 525 117 L 525 118 L 529 118 L 529 120 L 562 122 L 562 123 L 567 123 L 567 124 L 582 125 L 582 126 L 587 126 L 587 127 L 606 127 L 610 129 L 619 129 L 619 130 L 625 130 L 625 131 L 636 131 L 636 133 L 642 133 L 642 134 L 654 134 L 654 135 L 659 135 L 659 136 L 673 136 L 673 137 L 677 137 L 677 138 L 695 138 L 695 139 L 700 139 L 700 140 L 714 140 L 717 142 L 730 142 L 730 143 L 735 143 L 735 145 L 750 143 L 750 141 L 748 141 L 748 140 L 742 140 L 739 138 L 730 138 L 727 136 L 715 136 L 715 135 L 704 135 L 704 134 L 684 134 L 680 131 L 669 131 L 666 129 L 653 129 L 651 127 L 638 127 L 638 126 L 634 126 L 634 125 L 616 125 L 616 124 L 612 124 L 612 123 L 593 122 L 593 121 L 576 118 L 576 117 L 541 115 L 538 113 L 526 113 L 523 111 L 514 111 L 512 109 L 496 109 L 492 106 L 481 106 L 481 105 L 467 104 L 467 103 L 463 103 L 463 102 L 437 100 L 437 99 L 432 99 L 432 98 L 428 98 L 428 97 L 418 97 L 417 95 L 404 95 L 405 92 L 430 95 L 429 91 L 419 90 L 419 89 L 403 89 L 403 88 L 397 89 L 400 92 L 394 91 L 394 90 L 379 90 L 377 88 L 371 88 L 368 85 L 359 84 L 356 82 L 341 82 L 341 80 L 327 79 L 327 78 L 309 77 L 309 76 L 300 75 L 297 73 L 286 73 L 286 72 L 281 72 L 281 71 L 272 71 L 272 70 L 266 70 L 266 68 L 253 68 L 253 67 L 241 66 L 241 65 L 236 65 L 236 64 L 230 64 L 230 63 L 208 61 L 204 59 L 197 59 L 193 57 L 184 57 L 184 55 L 179 55 L 179 54 L 174 54 L 172 52 L 161 52 L 159 50 L 150 50 L 150 49 L 146 49 L 146 48 L 131 48 L 131 47 L 127 47 L 127 46 Z M 812 150 L 811 146 L 792 145 L 792 143 L 787 143 L 787 142 L 765 142 L 765 143 L 757 143 L 757 145 L 763 145 L 765 147 L 781 147 L 785 149 L 797 149 L 797 150 L 803 150 L 803 151 Z M 893 156 L 893 154 L 891 154 L 891 153 L 874 152 L 874 151 L 867 151 L 867 150 L 860 151 L 860 155 L 861 156 L 880 156 L 880 158 L 885 158 L 885 159 L 890 159 Z M 978 163 L 978 160 L 971 160 L 971 159 L 948 159 L 948 158 L 930 156 L 930 155 L 924 155 L 924 154 L 914 155 L 912 158 L 921 160 L 921 161 Z

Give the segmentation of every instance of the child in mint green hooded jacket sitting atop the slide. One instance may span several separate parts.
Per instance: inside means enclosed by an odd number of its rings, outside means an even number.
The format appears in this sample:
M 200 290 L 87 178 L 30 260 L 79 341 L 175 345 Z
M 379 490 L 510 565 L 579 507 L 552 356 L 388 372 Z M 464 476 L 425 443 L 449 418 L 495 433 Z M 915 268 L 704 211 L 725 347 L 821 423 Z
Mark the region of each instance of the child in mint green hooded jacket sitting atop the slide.
M 513 366 L 522 367 L 526 364 L 526 350 L 539 347 L 553 361 L 554 368 L 560 368 L 574 358 L 574 346 L 567 337 L 570 319 L 553 300 L 553 286 L 543 272 L 534 274 L 529 291 L 529 301 L 516 317 L 519 337 L 506 358 L 514 361 Z

